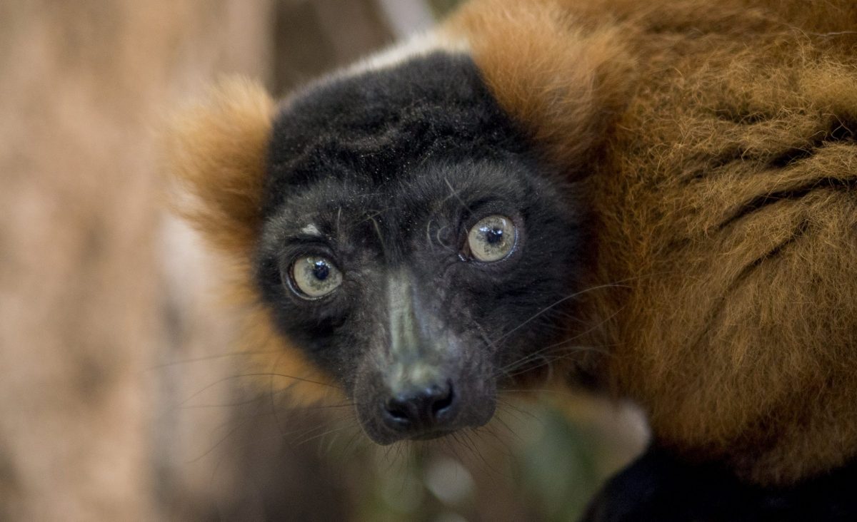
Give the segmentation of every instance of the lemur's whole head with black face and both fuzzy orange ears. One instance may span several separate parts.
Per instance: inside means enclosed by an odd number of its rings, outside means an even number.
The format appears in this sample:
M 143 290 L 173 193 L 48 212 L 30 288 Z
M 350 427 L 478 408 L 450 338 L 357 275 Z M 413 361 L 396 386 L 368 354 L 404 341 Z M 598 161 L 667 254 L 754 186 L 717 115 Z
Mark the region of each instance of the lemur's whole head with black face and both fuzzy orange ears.
M 529 67 L 501 17 L 481 44 L 517 65 L 479 45 L 393 53 L 277 108 L 232 82 L 171 133 L 185 214 L 237 261 L 278 364 L 344 390 L 376 442 L 485 424 L 498 387 L 573 341 L 590 257 L 575 180 L 612 55 L 542 15 L 560 63 Z

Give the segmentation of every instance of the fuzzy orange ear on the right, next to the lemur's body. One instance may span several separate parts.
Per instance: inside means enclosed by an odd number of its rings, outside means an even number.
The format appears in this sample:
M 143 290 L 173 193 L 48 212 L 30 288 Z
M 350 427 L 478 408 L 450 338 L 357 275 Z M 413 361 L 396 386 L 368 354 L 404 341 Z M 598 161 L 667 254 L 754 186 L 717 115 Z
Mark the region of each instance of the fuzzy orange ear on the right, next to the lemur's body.
M 632 86 L 633 63 L 619 29 L 574 16 L 554 0 L 476 0 L 447 26 L 478 35 L 470 49 L 488 88 L 563 166 L 597 152 Z

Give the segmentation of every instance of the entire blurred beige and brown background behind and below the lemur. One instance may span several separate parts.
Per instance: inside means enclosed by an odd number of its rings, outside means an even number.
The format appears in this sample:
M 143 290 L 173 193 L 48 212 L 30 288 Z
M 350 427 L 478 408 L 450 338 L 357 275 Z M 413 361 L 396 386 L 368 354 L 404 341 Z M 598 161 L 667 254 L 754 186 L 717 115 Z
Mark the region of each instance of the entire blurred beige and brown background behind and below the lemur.
M 394 448 L 260 394 L 162 204 L 171 107 L 221 74 L 282 95 L 455 3 L 0 0 L 0 520 L 569 520 L 643 448 L 562 392 Z

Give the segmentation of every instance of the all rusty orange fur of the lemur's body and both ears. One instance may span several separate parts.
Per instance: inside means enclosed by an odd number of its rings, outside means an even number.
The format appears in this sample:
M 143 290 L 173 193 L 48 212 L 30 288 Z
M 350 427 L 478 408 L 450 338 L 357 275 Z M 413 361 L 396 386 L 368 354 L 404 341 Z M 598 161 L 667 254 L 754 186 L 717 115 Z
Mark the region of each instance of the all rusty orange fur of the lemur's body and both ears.
M 589 187 L 592 284 L 622 284 L 588 294 L 587 341 L 610 354 L 575 368 L 636 400 L 664 447 L 758 483 L 857 454 L 855 28 L 847 0 L 477 0 L 444 29 Z M 249 276 L 270 102 L 213 100 L 179 126 L 175 163 Z M 272 342 L 270 365 L 321 378 Z

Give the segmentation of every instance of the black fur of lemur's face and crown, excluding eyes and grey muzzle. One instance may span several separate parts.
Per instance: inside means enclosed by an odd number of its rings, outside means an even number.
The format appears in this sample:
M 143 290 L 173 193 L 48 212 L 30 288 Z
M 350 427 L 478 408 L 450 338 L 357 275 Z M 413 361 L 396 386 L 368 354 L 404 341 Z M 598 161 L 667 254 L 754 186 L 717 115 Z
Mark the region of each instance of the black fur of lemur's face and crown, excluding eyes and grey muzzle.
M 495 380 L 568 322 L 560 314 L 578 288 L 586 226 L 575 187 L 558 177 L 468 56 L 322 81 L 274 124 L 262 295 L 280 331 L 353 393 L 357 374 L 373 371 L 368 354 L 383 350 L 387 276 L 405 269 L 436 319 L 424 334 L 467 347 L 460 364 L 478 375 L 461 378 Z M 490 214 L 518 225 L 515 252 L 494 264 L 463 258 L 467 230 Z M 285 281 L 292 260 L 310 254 L 343 273 L 339 290 L 313 301 Z

